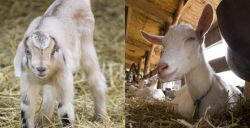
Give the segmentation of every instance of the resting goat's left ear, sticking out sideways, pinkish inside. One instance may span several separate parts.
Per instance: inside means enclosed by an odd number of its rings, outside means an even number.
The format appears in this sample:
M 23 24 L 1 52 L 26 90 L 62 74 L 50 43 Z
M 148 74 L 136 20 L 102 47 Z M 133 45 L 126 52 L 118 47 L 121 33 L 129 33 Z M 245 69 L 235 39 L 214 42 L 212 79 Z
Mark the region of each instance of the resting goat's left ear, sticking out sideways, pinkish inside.
M 162 45 L 163 36 L 156 36 L 141 31 L 142 36 L 153 44 Z

